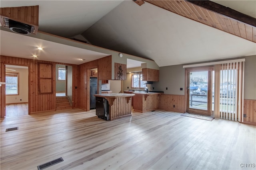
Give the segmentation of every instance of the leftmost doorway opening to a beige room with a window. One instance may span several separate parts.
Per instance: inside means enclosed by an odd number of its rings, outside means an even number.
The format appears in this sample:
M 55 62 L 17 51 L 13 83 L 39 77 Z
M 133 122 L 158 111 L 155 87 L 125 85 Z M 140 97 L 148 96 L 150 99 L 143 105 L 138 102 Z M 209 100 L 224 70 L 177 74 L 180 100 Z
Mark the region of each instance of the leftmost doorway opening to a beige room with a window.
M 28 66 L 5 65 L 6 117 L 28 115 Z

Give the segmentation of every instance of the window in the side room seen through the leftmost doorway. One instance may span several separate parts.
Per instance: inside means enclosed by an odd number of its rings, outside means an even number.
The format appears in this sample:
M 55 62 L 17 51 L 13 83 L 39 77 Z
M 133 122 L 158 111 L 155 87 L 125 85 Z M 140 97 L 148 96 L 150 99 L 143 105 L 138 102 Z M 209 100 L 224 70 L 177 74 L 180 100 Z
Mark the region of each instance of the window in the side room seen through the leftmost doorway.
M 18 95 L 19 94 L 19 73 L 6 72 L 5 74 L 5 94 Z

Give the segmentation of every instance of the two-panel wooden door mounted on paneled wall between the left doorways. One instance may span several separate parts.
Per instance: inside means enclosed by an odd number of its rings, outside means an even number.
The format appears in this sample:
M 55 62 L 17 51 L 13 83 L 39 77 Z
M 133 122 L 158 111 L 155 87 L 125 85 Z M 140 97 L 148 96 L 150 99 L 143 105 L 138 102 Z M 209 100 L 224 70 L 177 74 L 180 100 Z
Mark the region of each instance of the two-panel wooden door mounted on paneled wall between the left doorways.
M 52 93 L 52 64 L 38 63 L 38 93 Z

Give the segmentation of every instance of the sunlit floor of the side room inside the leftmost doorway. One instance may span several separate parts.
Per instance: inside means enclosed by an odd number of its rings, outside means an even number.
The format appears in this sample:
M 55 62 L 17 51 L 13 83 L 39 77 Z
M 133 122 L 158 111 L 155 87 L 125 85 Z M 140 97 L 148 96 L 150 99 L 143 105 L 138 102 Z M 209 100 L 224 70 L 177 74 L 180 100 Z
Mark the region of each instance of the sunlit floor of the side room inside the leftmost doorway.
M 6 117 L 28 115 L 28 104 L 6 105 Z

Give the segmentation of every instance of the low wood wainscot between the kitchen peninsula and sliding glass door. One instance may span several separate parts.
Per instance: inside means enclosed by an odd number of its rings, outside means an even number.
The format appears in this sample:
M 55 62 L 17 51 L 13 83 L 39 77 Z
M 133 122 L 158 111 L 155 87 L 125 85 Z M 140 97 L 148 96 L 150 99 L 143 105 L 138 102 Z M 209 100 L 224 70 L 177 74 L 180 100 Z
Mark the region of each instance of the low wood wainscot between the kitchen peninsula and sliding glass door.
M 174 107 L 175 106 L 175 107 Z M 186 112 L 185 96 L 173 94 L 161 94 L 159 97 L 159 108 L 168 111 Z

